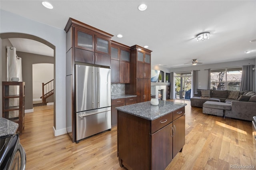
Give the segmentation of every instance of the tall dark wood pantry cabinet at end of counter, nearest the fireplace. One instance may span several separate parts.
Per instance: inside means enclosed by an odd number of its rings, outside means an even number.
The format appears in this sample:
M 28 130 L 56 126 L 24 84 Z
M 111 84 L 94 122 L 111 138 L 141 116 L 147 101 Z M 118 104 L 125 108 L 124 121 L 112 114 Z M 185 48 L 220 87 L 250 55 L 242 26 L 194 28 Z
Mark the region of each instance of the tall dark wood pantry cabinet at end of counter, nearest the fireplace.
M 151 50 L 134 45 L 131 47 L 130 84 L 125 85 L 126 94 L 136 94 L 137 103 L 151 99 Z

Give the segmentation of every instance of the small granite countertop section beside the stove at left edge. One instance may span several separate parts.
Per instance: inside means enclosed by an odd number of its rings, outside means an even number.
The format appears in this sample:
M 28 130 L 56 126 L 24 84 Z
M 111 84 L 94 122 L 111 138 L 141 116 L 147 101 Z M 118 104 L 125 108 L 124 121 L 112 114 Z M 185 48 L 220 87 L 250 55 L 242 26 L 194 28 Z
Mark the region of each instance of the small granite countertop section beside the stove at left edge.
M 9 121 L 8 119 L 0 117 L 0 136 L 6 134 L 15 134 L 19 127 L 18 123 Z

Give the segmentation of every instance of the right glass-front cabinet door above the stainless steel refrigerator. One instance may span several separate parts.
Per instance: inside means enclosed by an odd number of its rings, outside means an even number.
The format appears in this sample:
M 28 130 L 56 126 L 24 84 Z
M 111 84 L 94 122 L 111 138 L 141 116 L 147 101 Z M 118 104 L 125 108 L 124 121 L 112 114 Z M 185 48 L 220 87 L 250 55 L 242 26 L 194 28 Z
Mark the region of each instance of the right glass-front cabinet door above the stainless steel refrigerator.
M 110 40 L 97 35 L 95 37 L 96 37 L 95 52 L 110 54 Z

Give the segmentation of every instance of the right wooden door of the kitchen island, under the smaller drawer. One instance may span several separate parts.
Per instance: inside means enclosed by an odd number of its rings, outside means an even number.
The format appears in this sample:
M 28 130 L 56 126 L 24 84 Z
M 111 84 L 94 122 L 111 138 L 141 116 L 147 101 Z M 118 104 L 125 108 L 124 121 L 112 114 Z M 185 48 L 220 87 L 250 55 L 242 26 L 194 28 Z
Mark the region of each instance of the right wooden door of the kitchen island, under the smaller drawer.
M 173 134 L 174 147 L 172 152 L 172 158 L 174 158 L 174 156 L 176 156 L 176 154 L 180 152 L 180 150 L 183 148 L 185 144 L 185 115 L 173 121 L 173 128 L 174 128 L 174 134 Z

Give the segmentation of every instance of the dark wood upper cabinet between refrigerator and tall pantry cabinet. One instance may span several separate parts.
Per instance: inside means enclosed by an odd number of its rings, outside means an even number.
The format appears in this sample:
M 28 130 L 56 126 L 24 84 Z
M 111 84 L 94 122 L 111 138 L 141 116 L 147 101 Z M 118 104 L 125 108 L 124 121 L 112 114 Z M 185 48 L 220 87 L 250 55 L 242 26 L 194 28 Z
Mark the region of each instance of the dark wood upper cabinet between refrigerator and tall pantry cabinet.
M 111 41 L 111 83 L 130 83 L 130 47 Z

